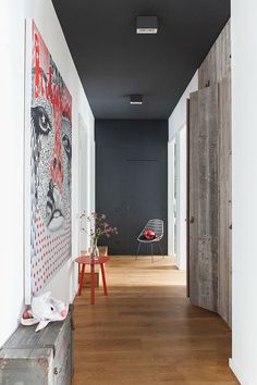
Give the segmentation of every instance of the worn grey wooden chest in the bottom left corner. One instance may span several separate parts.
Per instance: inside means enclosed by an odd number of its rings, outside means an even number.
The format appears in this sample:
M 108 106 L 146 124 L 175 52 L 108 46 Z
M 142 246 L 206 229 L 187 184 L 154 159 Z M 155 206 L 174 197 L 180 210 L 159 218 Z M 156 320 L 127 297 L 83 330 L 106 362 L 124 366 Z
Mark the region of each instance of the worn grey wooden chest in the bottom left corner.
M 72 311 L 63 322 L 20 325 L 0 350 L 2 385 L 70 385 L 73 374 Z

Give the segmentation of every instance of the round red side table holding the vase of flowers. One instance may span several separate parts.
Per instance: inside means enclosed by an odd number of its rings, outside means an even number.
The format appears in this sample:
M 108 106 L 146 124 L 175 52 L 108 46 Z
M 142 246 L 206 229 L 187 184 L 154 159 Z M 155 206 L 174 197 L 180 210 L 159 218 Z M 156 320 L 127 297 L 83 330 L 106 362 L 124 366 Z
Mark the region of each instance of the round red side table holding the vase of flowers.
M 103 291 L 105 291 L 105 296 L 107 296 L 107 283 L 106 283 L 106 274 L 105 274 L 103 263 L 108 262 L 109 260 L 110 260 L 110 258 L 105 257 L 105 256 L 100 256 L 97 260 L 91 260 L 89 256 L 81 256 L 75 259 L 75 262 L 78 263 L 78 265 L 82 265 L 79 287 L 78 287 L 78 291 L 77 291 L 78 296 L 82 295 L 82 287 L 83 287 L 84 276 L 85 276 L 86 264 L 90 265 L 91 305 L 95 303 L 95 265 L 96 264 L 100 265 Z

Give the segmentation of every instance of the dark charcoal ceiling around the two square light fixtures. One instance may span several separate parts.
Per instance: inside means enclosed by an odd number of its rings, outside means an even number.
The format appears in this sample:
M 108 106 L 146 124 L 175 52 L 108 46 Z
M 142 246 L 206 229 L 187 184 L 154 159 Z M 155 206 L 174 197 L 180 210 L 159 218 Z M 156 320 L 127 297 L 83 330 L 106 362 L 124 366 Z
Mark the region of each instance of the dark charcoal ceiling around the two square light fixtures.
M 96 119 L 169 117 L 230 17 L 230 0 L 52 2 Z M 157 15 L 158 34 L 136 35 L 137 15 Z

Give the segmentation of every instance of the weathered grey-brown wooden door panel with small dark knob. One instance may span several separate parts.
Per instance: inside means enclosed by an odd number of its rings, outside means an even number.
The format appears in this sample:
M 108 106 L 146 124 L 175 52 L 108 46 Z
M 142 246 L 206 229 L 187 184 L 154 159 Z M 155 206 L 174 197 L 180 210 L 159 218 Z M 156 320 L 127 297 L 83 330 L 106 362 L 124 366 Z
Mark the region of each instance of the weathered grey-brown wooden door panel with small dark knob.
M 192 305 L 218 311 L 219 92 L 191 94 L 188 142 L 188 284 Z

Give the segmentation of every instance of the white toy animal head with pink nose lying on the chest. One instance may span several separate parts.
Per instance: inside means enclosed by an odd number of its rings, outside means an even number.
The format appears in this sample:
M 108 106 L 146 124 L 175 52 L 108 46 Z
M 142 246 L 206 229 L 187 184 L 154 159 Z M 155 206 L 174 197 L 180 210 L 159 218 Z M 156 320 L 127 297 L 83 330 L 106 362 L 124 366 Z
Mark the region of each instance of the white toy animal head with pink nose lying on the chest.
M 49 322 L 63 321 L 68 315 L 68 307 L 60 300 L 50 297 L 50 291 L 33 297 L 32 308 L 23 313 L 21 323 L 25 326 L 38 323 L 36 332 L 46 327 Z

